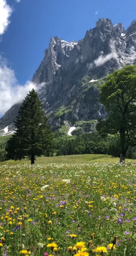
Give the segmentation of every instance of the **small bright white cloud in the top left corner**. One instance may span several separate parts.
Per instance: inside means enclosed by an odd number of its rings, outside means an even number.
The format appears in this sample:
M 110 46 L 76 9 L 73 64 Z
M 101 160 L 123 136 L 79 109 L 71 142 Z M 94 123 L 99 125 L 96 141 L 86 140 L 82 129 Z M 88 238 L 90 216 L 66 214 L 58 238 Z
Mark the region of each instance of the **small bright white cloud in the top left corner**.
M 7 4 L 6 0 L 0 0 L 0 35 L 3 35 L 10 23 L 12 8 Z

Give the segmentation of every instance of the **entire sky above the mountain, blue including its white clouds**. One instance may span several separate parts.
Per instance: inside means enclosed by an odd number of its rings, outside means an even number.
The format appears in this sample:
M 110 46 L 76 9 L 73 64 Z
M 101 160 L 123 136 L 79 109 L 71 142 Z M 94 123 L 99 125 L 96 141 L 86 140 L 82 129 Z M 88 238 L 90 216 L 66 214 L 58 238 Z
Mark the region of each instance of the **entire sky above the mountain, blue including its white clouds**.
M 78 41 L 99 18 L 127 28 L 135 10 L 136 0 L 0 0 L 0 117 L 39 89 L 32 76 L 52 36 Z

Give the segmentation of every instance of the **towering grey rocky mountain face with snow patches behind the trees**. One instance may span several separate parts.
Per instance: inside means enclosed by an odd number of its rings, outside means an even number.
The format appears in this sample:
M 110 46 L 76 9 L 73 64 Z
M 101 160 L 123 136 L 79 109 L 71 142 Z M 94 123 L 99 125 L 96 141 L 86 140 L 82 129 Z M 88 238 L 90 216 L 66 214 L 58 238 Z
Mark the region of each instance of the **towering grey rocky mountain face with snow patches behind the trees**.
M 65 122 L 104 118 L 104 106 L 98 102 L 100 84 L 110 72 L 135 64 L 135 50 L 136 20 L 125 30 L 122 23 L 114 26 L 100 18 L 79 42 L 52 37 L 32 81 L 45 83 L 38 95 L 53 129 Z M 17 110 L 15 105 L 5 113 L 1 128 L 15 120 Z

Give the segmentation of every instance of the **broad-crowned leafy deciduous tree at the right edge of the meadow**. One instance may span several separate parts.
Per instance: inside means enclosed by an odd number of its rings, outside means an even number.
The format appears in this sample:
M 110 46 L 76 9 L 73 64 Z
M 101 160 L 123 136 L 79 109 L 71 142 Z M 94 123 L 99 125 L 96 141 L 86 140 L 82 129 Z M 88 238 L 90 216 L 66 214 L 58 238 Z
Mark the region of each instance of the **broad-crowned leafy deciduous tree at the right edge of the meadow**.
M 129 146 L 136 145 L 136 66 L 129 65 L 111 73 L 101 86 L 100 102 L 107 118 L 99 120 L 96 129 L 102 134 L 117 134 L 120 162 L 125 161 Z

